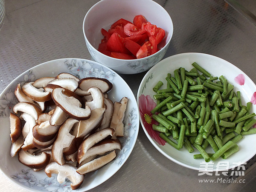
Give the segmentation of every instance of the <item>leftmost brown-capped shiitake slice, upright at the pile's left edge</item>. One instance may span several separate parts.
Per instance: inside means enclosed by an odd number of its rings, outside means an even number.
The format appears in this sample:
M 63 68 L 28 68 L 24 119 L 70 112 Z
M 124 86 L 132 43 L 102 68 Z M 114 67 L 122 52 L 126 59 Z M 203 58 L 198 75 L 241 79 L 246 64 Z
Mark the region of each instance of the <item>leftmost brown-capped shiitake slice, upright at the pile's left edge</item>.
M 18 117 L 14 113 L 10 113 L 10 129 L 11 129 L 10 137 L 11 137 L 12 143 L 14 143 L 20 137 L 21 130 L 22 130 L 20 117 Z

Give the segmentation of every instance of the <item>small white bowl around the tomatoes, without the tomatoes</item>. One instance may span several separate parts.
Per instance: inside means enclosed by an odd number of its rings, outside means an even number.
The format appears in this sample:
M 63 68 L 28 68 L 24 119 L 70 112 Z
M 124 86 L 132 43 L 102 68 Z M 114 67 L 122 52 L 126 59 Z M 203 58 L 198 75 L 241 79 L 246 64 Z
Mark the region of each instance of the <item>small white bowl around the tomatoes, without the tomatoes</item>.
M 146 58 L 124 60 L 109 57 L 97 50 L 103 38 L 102 28 L 108 30 L 120 18 L 132 22 L 135 15 L 143 15 L 149 22 L 165 30 L 166 37 L 159 44 L 161 49 L 158 52 Z M 153 0 L 101 0 L 85 15 L 83 32 L 87 48 L 95 61 L 116 73 L 134 74 L 150 69 L 163 58 L 172 38 L 173 24 L 168 12 Z

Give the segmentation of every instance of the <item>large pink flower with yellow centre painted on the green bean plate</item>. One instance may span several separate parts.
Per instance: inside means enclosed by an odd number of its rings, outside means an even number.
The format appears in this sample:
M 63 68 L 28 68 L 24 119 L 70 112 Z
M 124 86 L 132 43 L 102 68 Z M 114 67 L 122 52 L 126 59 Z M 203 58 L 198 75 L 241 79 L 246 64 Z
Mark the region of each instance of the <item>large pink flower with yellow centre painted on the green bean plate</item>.
M 152 113 L 150 112 L 153 108 L 155 108 L 155 106 L 156 103 L 149 95 L 141 95 L 139 97 L 140 117 L 143 121 L 145 129 L 147 130 L 149 136 L 159 145 L 165 145 L 166 141 L 159 137 L 159 132 L 152 129 L 152 124 L 158 124 L 154 119 L 152 119 Z

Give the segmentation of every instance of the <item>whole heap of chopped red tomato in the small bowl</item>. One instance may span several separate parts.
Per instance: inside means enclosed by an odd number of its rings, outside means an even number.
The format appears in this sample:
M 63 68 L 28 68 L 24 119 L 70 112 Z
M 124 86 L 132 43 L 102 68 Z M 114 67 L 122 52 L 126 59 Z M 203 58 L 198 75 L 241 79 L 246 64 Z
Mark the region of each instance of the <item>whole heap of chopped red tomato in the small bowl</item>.
M 123 18 L 110 29 L 101 29 L 104 36 L 98 51 L 119 59 L 144 58 L 159 51 L 157 45 L 165 37 L 165 31 L 151 24 L 143 15 L 136 15 L 133 23 Z

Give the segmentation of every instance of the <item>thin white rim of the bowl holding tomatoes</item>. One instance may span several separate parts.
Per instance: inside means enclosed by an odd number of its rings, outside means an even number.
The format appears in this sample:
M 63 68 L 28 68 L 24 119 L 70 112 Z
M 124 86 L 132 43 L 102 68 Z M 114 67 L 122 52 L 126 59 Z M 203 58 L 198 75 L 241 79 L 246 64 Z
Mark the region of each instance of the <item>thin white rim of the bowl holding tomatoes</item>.
M 90 12 L 92 11 L 92 9 L 93 9 L 95 6 L 97 6 L 99 3 L 102 3 L 102 2 L 104 2 L 104 1 L 108 1 L 108 0 L 100 0 L 99 2 L 95 3 L 95 4 L 87 11 L 87 13 L 86 13 L 85 16 L 84 16 L 84 20 L 83 20 L 83 34 L 84 34 L 84 38 L 85 38 L 85 40 L 86 40 L 86 43 L 88 42 L 88 44 L 90 45 L 90 47 L 92 47 L 92 49 L 93 49 L 94 51 L 98 52 L 98 53 L 99 53 L 100 55 L 102 55 L 102 56 L 105 56 L 105 57 L 107 57 L 107 58 L 109 58 L 109 59 L 113 59 L 113 60 L 116 60 L 116 61 L 142 61 L 142 60 L 145 59 L 145 58 L 154 57 L 154 55 L 156 55 L 157 53 L 161 52 L 161 50 L 164 50 L 166 47 L 169 46 L 169 44 L 170 44 L 170 42 L 171 42 L 171 40 L 172 40 L 173 31 L 174 31 L 172 18 L 171 18 L 171 16 L 169 15 L 169 13 L 166 11 L 166 9 L 164 9 L 163 6 L 161 6 L 159 3 L 155 2 L 154 0 L 148 0 L 148 1 L 151 1 L 151 2 L 155 3 L 156 6 L 159 6 L 159 7 L 163 10 L 163 12 L 166 12 L 167 15 L 169 16 L 169 19 L 170 19 L 169 25 L 172 26 L 172 27 L 171 27 L 171 28 L 172 28 L 172 31 L 169 32 L 169 34 L 170 34 L 170 39 L 166 42 L 166 44 L 165 44 L 159 51 L 155 52 L 154 54 L 149 55 L 149 56 L 144 57 L 144 58 L 138 58 L 138 59 L 137 59 L 137 58 L 136 58 L 136 59 L 119 59 L 119 58 L 113 58 L 113 57 L 110 57 L 110 56 L 108 56 L 108 55 L 103 54 L 102 52 L 99 52 L 99 51 L 90 43 L 90 41 L 87 39 L 87 36 L 85 35 L 84 25 L 85 25 L 85 19 L 86 19 L 87 15 L 90 14 Z

